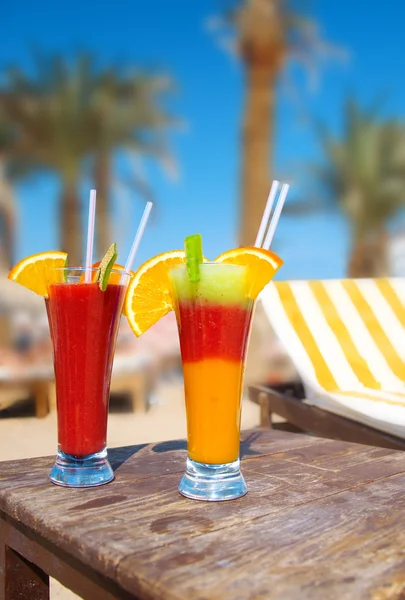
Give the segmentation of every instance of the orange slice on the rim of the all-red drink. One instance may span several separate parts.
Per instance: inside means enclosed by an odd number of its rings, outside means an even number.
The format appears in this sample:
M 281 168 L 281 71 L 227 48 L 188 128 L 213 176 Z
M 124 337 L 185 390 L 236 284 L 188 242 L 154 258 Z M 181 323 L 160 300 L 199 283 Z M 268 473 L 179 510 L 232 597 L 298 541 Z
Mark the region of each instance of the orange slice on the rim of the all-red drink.
M 43 296 L 48 297 L 48 288 L 51 283 L 57 283 L 58 277 L 52 273 L 56 267 L 66 265 L 66 252 L 40 252 L 23 258 L 8 274 L 8 278 L 16 281 L 23 287 Z

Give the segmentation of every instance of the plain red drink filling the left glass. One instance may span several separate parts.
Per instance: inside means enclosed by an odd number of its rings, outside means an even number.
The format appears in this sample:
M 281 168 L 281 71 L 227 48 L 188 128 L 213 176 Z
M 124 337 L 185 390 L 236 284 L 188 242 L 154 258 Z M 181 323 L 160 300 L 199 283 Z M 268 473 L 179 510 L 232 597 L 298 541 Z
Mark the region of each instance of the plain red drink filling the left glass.
M 58 442 L 65 454 L 86 456 L 106 445 L 115 341 L 125 286 L 50 286 L 48 318 L 54 348 Z

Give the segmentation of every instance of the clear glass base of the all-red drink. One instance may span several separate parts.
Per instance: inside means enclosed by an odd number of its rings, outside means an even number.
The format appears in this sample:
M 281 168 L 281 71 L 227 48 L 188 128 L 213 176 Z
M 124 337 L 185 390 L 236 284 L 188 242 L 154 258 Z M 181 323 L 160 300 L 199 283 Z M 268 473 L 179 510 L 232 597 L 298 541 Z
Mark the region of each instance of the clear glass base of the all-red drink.
M 114 472 L 107 458 L 107 449 L 78 457 L 58 450 L 49 479 L 64 487 L 93 487 L 109 483 Z

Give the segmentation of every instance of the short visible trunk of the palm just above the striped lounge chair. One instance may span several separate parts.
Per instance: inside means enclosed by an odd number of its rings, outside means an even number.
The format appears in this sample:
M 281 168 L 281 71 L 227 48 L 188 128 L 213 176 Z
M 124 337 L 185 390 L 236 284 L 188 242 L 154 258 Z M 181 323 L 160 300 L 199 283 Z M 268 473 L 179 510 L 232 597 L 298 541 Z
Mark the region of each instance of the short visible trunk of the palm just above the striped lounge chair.
M 388 274 L 388 240 L 384 225 L 378 230 L 354 237 L 347 276 L 383 277 Z

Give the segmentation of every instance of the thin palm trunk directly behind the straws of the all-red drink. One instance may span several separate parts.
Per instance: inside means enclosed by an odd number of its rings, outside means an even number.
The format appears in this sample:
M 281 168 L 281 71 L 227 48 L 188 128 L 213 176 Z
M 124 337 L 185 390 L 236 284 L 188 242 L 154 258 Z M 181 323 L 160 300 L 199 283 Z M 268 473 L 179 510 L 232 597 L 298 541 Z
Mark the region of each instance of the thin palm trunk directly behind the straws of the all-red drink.
M 94 171 L 94 180 L 97 189 L 96 249 L 101 258 L 113 242 L 111 239 L 111 216 L 109 210 L 110 157 L 107 152 L 100 152 L 97 155 Z

